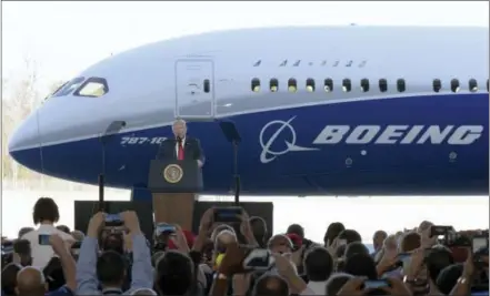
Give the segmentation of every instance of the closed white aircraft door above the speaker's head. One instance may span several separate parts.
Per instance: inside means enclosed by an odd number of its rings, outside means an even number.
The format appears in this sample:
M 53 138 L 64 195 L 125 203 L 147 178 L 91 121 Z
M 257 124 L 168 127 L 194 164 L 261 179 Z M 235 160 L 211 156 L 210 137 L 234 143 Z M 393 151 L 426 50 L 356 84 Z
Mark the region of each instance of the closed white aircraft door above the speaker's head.
M 178 60 L 176 63 L 176 116 L 187 120 L 214 118 L 212 60 Z

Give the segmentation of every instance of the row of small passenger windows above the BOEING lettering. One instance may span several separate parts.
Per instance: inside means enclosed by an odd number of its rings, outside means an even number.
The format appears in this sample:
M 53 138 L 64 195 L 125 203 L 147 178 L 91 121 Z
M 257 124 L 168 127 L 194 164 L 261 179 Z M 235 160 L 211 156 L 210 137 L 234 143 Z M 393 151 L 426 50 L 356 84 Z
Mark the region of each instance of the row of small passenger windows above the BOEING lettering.
M 343 92 L 350 92 L 353 89 L 353 82 L 350 79 L 342 80 L 341 88 Z M 380 79 L 378 81 L 370 81 L 369 79 L 361 79 L 361 81 L 358 84 L 360 86 L 360 90 L 362 92 L 369 92 L 372 89 L 379 89 L 380 92 L 387 92 L 388 91 L 388 81 L 386 79 Z M 271 92 L 279 91 L 279 81 L 277 79 L 270 79 L 269 80 L 269 90 Z M 308 92 L 314 92 L 317 90 L 317 84 L 314 79 L 307 79 L 304 83 L 306 90 Z M 333 80 L 326 79 L 323 81 L 323 91 L 331 92 L 333 91 Z M 260 92 L 261 84 L 260 80 L 258 78 L 252 79 L 251 81 L 251 89 L 253 92 Z M 404 79 L 398 79 L 396 83 L 396 89 L 398 92 L 404 92 L 407 90 L 407 83 Z M 450 89 L 452 92 L 459 92 L 461 89 L 461 83 L 458 79 L 453 79 L 450 81 Z M 474 79 L 470 79 L 468 81 L 468 89 L 470 92 L 477 92 L 478 91 L 478 82 Z M 442 82 L 440 79 L 434 79 L 432 81 L 432 90 L 434 92 L 440 92 L 442 90 Z M 487 80 L 487 91 L 489 90 L 489 81 Z M 289 92 L 297 92 L 298 91 L 298 81 L 296 79 L 289 79 L 288 80 L 288 91 Z

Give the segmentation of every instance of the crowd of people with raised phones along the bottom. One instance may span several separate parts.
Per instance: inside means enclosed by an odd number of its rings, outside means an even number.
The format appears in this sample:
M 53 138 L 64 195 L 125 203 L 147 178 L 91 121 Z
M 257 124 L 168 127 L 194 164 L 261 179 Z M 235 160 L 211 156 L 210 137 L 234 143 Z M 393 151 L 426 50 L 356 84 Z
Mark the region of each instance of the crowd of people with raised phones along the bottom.
M 64 295 L 488 295 L 488 231 L 456 232 L 423 221 L 373 235 L 331 223 L 324 239 L 301 225 L 269 234 L 241 212 L 218 223 L 208 210 L 192 234 L 158 224 L 142 233 L 134 212 L 96 213 L 87 229 L 58 225 L 52 198 L 33 207 L 37 228 L 2 238 L 2 296 Z M 84 231 L 84 232 L 82 232 Z

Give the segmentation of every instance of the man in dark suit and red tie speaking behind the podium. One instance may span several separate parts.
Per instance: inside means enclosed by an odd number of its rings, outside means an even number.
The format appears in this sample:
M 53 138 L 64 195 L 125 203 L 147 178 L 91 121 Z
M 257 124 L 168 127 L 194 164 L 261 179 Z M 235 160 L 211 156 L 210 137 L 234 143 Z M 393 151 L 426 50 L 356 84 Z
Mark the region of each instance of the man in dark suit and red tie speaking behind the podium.
M 204 164 L 204 154 L 198 139 L 187 136 L 187 125 L 183 120 L 176 120 L 172 125 L 174 139 L 163 141 L 158 150 L 157 160 L 196 160 L 199 167 Z

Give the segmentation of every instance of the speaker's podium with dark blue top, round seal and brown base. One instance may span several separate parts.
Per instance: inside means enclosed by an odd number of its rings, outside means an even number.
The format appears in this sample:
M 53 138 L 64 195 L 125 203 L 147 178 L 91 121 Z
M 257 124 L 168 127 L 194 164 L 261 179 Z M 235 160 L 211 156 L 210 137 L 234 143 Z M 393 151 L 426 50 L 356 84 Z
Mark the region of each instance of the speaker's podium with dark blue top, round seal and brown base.
M 196 194 L 202 186 L 202 172 L 196 160 L 152 160 L 148 190 L 153 196 L 154 222 L 191 229 Z

